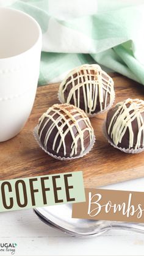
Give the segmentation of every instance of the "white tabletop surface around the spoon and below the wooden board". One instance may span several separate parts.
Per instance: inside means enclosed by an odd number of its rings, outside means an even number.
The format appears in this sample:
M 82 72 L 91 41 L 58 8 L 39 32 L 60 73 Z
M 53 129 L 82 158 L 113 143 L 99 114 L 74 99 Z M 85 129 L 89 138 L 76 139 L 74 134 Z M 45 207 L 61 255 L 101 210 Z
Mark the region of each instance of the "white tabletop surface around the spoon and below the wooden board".
M 104 188 L 143 191 L 144 178 Z M 139 233 L 110 230 L 95 238 L 74 238 L 43 224 L 32 210 L 1 213 L 0 220 L 0 241 L 18 244 L 15 255 L 144 255 Z

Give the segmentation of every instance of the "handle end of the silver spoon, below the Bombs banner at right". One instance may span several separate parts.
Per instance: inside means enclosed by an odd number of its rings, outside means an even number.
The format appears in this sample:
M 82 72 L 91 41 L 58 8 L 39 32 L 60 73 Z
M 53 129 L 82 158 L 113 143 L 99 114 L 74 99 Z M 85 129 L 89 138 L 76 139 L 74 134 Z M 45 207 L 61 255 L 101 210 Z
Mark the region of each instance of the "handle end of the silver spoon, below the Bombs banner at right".
M 123 229 L 134 231 L 138 233 L 144 233 L 144 224 L 133 222 L 110 222 L 111 229 Z

